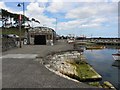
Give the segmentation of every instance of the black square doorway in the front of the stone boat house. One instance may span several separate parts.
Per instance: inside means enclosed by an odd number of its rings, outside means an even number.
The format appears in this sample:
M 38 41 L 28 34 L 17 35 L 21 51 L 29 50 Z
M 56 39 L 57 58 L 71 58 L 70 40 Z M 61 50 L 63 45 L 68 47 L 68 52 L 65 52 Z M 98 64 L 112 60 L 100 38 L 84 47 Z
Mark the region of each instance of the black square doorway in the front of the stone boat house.
M 34 44 L 35 45 L 46 45 L 46 36 L 45 35 L 35 35 Z

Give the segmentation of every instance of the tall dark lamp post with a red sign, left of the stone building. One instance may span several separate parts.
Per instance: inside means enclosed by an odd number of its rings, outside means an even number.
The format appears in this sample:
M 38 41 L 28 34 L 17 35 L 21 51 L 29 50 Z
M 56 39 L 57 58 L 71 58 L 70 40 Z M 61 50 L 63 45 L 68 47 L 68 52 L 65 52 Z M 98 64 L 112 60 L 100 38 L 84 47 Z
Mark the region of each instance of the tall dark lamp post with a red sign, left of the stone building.
M 21 7 L 21 5 L 23 5 L 23 23 L 25 23 L 25 4 L 23 3 L 18 3 L 18 7 Z M 19 47 L 22 48 L 22 42 L 21 42 L 21 14 L 19 15 Z

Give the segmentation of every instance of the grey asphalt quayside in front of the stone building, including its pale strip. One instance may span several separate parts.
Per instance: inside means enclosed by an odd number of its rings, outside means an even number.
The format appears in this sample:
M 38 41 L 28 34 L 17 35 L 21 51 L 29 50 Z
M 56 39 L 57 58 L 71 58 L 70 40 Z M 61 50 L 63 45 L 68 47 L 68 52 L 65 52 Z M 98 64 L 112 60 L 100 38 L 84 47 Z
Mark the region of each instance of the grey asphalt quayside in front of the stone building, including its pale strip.
M 60 77 L 36 61 L 35 56 L 44 57 L 53 51 L 72 49 L 72 45 L 58 42 L 54 46 L 26 45 L 21 49 L 3 52 L 3 88 L 92 88 L 84 83 Z M 27 55 L 27 56 L 26 56 Z M 32 58 L 29 58 L 31 55 Z M 34 56 L 35 55 L 35 56 Z

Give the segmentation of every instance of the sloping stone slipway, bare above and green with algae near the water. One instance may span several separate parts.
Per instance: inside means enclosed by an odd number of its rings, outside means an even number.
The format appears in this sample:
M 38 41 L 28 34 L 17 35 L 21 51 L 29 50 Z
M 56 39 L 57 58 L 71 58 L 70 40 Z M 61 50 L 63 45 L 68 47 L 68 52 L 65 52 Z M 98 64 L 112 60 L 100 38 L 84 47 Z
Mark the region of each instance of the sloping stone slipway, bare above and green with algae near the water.
M 72 80 L 82 82 L 100 81 L 102 77 L 85 61 L 79 51 L 67 51 L 48 55 L 45 67 L 50 71 Z

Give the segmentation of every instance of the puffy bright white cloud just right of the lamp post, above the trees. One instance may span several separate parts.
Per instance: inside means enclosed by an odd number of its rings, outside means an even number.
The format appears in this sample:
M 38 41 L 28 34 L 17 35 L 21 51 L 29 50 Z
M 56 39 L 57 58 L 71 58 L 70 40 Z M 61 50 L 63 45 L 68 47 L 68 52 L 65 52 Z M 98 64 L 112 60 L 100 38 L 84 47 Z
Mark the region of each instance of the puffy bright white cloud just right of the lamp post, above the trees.
M 54 18 L 49 18 L 44 15 L 45 8 L 41 7 L 40 3 L 32 2 L 27 6 L 26 15 L 30 18 L 35 18 L 40 21 L 40 24 L 34 23 L 34 26 L 49 26 L 54 28 Z

